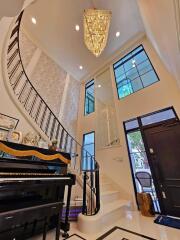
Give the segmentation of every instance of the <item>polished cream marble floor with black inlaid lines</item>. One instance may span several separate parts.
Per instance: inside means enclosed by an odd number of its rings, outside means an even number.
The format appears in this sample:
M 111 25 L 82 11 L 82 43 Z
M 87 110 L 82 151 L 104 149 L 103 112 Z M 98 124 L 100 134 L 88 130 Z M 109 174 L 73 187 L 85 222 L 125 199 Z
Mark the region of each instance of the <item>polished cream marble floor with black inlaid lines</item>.
M 159 224 L 155 224 L 153 222 L 154 218 L 143 217 L 137 211 L 126 212 L 126 217 L 120 219 L 118 222 L 113 224 L 113 226 L 109 226 L 103 232 L 99 232 L 94 235 L 85 235 L 78 231 L 76 227 L 76 223 L 71 224 L 71 230 L 69 232 L 70 238 L 69 240 L 146 240 L 146 239 L 155 239 L 155 240 L 180 240 L 180 230 L 165 227 Z M 101 236 L 111 230 L 114 227 L 111 234 L 102 238 Z M 122 229 L 126 229 L 128 231 L 124 231 Z M 133 234 L 135 232 L 136 234 Z M 81 236 L 80 237 L 78 237 Z M 31 240 L 41 240 L 42 236 L 38 236 Z M 64 239 L 61 237 L 60 239 Z M 48 233 L 47 240 L 55 240 L 54 231 Z

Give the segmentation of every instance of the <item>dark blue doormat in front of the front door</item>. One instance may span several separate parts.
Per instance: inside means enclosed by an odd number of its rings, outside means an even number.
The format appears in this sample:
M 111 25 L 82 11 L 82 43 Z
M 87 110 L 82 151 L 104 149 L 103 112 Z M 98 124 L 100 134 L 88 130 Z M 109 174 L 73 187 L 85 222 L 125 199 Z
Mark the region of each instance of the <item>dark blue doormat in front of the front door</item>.
M 159 215 L 155 220 L 155 223 L 161 224 L 167 227 L 180 229 L 180 219 Z

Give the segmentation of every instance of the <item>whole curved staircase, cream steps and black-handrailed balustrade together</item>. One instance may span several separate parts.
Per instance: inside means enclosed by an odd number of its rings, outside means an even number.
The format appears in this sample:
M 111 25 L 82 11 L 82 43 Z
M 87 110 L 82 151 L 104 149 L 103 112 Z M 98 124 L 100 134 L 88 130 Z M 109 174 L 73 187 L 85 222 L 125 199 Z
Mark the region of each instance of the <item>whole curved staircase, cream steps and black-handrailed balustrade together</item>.
M 29 80 L 19 46 L 22 15 L 23 12 L 14 20 L 5 48 L 7 59 L 4 70 L 8 73 L 5 74 L 8 92 L 43 139 L 57 139 L 58 147 L 71 154 L 69 169 L 77 175 L 83 189 L 83 209 L 78 219 L 79 230 L 86 234 L 102 231 L 104 227 L 123 216 L 130 202 L 121 200 L 120 191 L 107 176 L 102 175 L 99 181 L 97 161 L 68 133 Z M 82 159 L 90 163 L 90 169 L 82 169 Z

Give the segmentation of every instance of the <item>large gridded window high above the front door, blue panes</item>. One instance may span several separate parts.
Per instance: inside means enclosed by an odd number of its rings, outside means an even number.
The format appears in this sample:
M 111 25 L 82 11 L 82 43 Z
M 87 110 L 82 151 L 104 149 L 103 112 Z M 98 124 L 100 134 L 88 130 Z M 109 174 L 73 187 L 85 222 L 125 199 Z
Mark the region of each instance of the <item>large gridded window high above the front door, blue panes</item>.
M 119 98 L 159 81 L 142 45 L 121 58 L 113 67 Z

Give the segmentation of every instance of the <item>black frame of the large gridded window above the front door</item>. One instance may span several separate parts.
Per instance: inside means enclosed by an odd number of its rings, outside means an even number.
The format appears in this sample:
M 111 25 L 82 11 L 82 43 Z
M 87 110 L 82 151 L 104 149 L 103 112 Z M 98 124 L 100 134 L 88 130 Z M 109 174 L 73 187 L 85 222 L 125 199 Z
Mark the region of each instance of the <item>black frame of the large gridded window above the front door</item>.
M 117 65 L 116 67 L 114 67 L 114 66 L 115 66 L 118 62 L 120 62 L 122 59 L 126 58 L 129 54 L 132 54 L 132 52 L 136 51 L 136 50 L 137 50 L 138 48 L 140 48 L 140 47 L 142 48 L 142 50 L 136 52 L 136 53 L 133 54 L 130 58 L 126 59 L 126 60 L 123 62 L 123 64 L 126 63 L 127 61 L 129 61 L 130 59 L 132 59 L 133 57 L 135 57 L 136 55 L 138 55 L 140 52 L 144 51 L 144 53 L 145 53 L 146 56 L 147 56 L 147 60 L 149 60 L 149 63 L 150 63 L 150 65 L 151 65 L 151 67 L 152 67 L 152 69 L 153 69 L 153 71 L 154 71 L 154 73 L 155 73 L 155 75 L 156 75 L 156 77 L 157 77 L 157 81 L 149 84 L 148 86 L 144 86 L 144 85 L 143 85 L 143 81 L 141 80 L 142 86 L 143 86 L 142 88 L 138 89 L 137 91 L 133 91 L 132 93 L 130 93 L 130 94 L 124 96 L 124 97 L 120 97 L 120 96 L 119 96 L 119 93 L 118 93 L 118 83 L 117 83 L 117 80 L 116 80 L 115 70 L 116 70 L 121 64 Z M 126 97 L 128 97 L 128 96 L 130 96 L 130 95 L 133 95 L 133 94 L 135 94 L 136 92 L 139 92 L 139 91 L 141 91 L 141 90 L 143 90 L 143 89 L 145 89 L 145 88 L 147 88 L 147 87 L 150 87 L 150 86 L 152 86 L 153 84 L 156 84 L 156 83 L 158 83 L 158 82 L 160 81 L 160 78 L 159 78 L 159 76 L 158 76 L 158 74 L 157 74 L 157 72 L 156 72 L 156 70 L 155 70 L 155 68 L 154 68 L 154 66 L 153 66 L 153 64 L 152 64 L 152 62 L 151 62 L 151 60 L 150 60 L 150 58 L 149 58 L 149 56 L 148 56 L 148 54 L 147 54 L 144 46 L 143 46 L 143 44 L 138 45 L 136 48 L 134 48 L 133 50 L 131 50 L 130 52 L 128 52 L 127 54 L 125 54 L 123 57 L 121 57 L 118 61 L 116 61 L 116 62 L 113 64 L 113 72 L 114 72 L 114 79 L 115 79 L 115 83 L 116 83 L 116 90 L 117 90 L 117 95 L 118 95 L 118 99 L 119 99 L 119 100 L 122 100 L 122 99 L 124 99 L 124 98 L 126 98 Z M 140 79 L 141 79 L 141 76 L 142 76 L 142 75 L 139 76 Z M 135 79 L 136 79 L 136 78 L 135 78 Z M 133 80 L 135 80 L 135 79 L 133 79 Z

